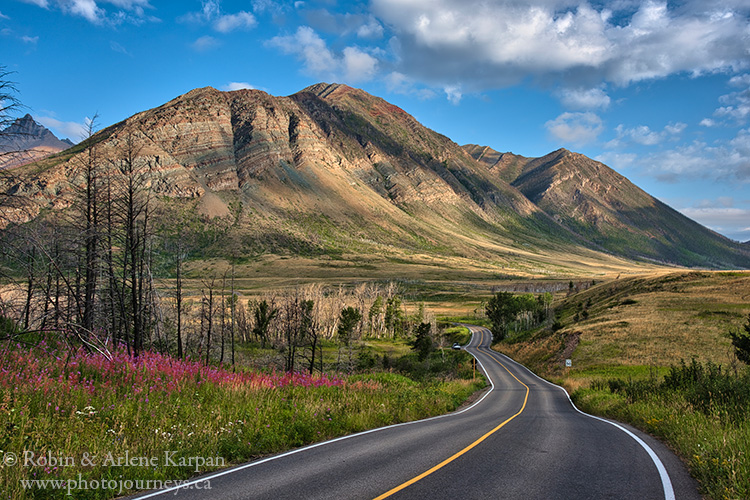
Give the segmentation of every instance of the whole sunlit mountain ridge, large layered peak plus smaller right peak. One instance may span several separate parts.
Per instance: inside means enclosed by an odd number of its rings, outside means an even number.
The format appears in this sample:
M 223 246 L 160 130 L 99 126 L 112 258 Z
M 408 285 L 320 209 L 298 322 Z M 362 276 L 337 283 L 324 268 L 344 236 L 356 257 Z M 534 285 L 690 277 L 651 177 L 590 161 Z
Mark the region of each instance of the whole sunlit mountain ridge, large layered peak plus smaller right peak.
M 287 97 L 196 89 L 90 143 L 114 159 L 129 138 L 150 167 L 153 192 L 234 217 L 232 245 L 242 255 L 342 266 L 419 262 L 426 277 L 451 266 L 534 275 L 625 269 L 632 259 L 750 267 L 739 245 L 686 222 L 600 163 L 564 150 L 533 159 L 462 148 L 346 85 L 316 84 Z M 0 189 L 28 200 L 10 219 L 70 205 L 83 148 L 6 182 Z M 654 207 L 664 215 L 646 213 Z M 695 235 L 703 247 L 682 249 Z

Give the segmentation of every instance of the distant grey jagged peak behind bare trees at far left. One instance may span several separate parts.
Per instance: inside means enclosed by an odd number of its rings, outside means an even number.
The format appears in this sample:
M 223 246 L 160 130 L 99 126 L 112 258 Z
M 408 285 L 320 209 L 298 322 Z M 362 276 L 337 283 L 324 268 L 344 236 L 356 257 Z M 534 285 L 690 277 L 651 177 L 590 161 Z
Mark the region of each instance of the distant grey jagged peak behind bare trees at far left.
M 0 168 L 31 163 L 71 146 L 69 139 L 58 139 L 27 114 L 0 130 Z

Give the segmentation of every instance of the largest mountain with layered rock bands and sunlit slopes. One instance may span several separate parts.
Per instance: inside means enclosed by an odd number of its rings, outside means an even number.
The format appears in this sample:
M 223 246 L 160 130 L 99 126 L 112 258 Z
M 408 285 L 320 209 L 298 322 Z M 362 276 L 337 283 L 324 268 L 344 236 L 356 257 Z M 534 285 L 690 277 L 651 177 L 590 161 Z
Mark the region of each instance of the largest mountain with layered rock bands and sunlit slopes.
M 151 165 L 156 193 L 200 198 L 211 215 L 227 215 L 239 201 L 254 214 L 247 224 L 255 242 L 272 251 L 289 241 L 312 253 L 385 245 L 503 266 L 504 254 L 527 254 L 533 243 L 523 263 L 531 267 L 539 248 L 572 241 L 458 145 L 344 85 L 289 97 L 196 89 L 93 141 L 112 158 L 128 134 Z M 12 189 L 40 204 L 70 199 L 69 181 L 80 182 L 77 151 L 40 164 Z

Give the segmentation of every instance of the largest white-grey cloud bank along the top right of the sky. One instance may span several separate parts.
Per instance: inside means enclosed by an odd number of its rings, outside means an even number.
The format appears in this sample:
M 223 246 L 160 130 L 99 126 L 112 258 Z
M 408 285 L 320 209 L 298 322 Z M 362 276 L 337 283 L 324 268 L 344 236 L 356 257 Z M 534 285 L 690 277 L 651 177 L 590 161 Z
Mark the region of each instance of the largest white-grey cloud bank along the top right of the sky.
M 750 68 L 747 2 L 372 0 L 371 5 L 399 40 L 401 64 L 394 69 L 433 83 L 461 78 L 481 89 L 531 76 L 586 88 L 601 81 L 628 85 L 683 72 Z

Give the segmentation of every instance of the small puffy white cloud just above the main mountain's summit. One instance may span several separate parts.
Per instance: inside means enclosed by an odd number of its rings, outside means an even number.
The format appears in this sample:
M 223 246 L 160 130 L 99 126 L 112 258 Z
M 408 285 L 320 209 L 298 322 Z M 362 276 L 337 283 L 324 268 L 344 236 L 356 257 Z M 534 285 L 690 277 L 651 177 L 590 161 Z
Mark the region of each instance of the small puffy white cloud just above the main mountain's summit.
M 372 55 L 357 47 L 346 47 L 341 55 L 335 54 L 309 26 L 300 26 L 294 35 L 274 37 L 267 44 L 297 56 L 307 73 L 324 79 L 366 81 L 377 70 L 378 60 Z

